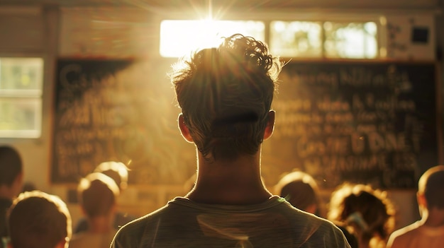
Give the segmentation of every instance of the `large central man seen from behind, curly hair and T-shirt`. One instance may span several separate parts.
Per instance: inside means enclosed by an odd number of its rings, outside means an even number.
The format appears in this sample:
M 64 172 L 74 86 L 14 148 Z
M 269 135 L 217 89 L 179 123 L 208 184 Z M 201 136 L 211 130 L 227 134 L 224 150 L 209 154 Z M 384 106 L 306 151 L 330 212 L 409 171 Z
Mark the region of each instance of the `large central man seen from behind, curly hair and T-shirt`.
M 270 106 L 281 69 L 267 45 L 240 34 L 174 65 L 177 122 L 196 148 L 196 183 L 123 226 L 111 247 L 349 247 L 331 222 L 262 182 L 261 144 L 274 129 Z

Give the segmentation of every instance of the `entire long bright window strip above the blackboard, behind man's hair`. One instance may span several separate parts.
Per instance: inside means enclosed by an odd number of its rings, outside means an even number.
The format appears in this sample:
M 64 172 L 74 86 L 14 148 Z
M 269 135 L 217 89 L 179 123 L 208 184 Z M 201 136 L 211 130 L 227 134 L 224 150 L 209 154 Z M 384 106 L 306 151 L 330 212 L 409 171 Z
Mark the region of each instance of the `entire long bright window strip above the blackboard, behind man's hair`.
M 384 51 L 378 44 L 378 25 L 372 21 L 272 20 L 266 28 L 264 22 L 255 20 L 163 20 L 160 54 L 181 57 L 233 33 L 257 40 L 267 37 L 272 54 L 281 57 L 376 59 L 379 50 Z

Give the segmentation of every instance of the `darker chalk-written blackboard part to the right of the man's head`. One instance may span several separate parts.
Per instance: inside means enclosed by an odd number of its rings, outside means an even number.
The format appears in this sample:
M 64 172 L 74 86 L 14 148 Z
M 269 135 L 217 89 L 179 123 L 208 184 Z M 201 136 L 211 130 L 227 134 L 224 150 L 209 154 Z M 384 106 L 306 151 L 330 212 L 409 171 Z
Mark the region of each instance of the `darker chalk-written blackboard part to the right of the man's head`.
M 440 162 L 435 63 L 290 61 L 279 77 L 264 174 L 309 172 L 342 182 L 409 189 Z

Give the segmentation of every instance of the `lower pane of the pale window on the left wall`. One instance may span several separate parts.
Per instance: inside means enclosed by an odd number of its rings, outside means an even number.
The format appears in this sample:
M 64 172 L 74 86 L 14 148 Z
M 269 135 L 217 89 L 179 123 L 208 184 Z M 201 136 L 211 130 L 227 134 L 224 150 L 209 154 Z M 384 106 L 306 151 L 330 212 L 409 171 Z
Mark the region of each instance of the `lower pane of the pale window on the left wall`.
M 38 138 L 41 106 L 40 98 L 0 98 L 0 138 Z

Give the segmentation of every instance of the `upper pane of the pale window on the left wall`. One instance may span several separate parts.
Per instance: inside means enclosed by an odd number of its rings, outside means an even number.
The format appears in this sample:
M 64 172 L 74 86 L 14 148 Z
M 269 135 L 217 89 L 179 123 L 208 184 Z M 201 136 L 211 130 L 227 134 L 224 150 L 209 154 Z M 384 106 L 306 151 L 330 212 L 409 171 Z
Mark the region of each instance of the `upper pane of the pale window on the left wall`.
M 42 95 L 42 58 L 0 58 L 2 95 Z

